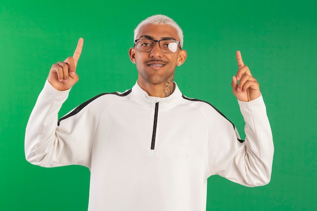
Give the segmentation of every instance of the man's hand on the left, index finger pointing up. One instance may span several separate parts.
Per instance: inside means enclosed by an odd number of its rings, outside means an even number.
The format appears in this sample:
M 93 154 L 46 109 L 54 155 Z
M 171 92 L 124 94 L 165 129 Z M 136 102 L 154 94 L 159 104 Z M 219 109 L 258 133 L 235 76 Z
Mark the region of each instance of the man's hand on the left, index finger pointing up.
M 76 66 L 81 56 L 83 45 L 84 39 L 80 38 L 72 57 L 52 65 L 48 80 L 56 90 L 69 90 L 78 81 Z

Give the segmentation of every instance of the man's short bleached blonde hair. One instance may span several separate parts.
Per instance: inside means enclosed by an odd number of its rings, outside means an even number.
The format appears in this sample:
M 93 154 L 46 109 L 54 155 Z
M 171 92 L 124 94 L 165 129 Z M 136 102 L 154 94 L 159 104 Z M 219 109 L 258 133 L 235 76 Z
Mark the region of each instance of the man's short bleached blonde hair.
M 138 35 L 141 27 L 143 25 L 149 24 L 149 23 L 150 24 L 167 24 L 167 25 L 174 27 L 176 29 L 177 35 L 180 39 L 179 40 L 180 47 L 183 48 L 184 35 L 183 35 L 182 29 L 179 27 L 179 25 L 173 19 L 171 19 L 165 15 L 153 15 L 153 16 L 150 16 L 150 17 L 146 18 L 145 20 L 141 21 L 141 23 L 139 23 L 139 25 L 134 30 L 134 40 L 136 40 L 137 35 Z

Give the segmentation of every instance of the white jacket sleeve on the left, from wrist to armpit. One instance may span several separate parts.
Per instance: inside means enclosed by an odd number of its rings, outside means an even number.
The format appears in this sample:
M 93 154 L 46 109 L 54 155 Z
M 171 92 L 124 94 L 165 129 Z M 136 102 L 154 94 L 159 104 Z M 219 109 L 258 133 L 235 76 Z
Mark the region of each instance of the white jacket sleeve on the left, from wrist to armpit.
M 84 127 L 85 115 L 57 125 L 58 112 L 68 93 L 69 90 L 55 90 L 46 81 L 26 126 L 24 149 L 28 162 L 45 167 L 69 164 L 90 167 L 93 125 Z

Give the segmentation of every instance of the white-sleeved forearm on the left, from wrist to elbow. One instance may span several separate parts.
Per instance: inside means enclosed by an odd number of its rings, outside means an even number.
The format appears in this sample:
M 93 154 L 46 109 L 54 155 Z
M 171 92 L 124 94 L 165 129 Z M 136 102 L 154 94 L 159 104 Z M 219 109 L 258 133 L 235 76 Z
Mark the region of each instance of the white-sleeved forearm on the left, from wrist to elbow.
M 39 94 L 25 132 L 25 157 L 32 164 L 48 165 L 54 145 L 58 112 L 68 91 L 55 90 L 48 81 Z

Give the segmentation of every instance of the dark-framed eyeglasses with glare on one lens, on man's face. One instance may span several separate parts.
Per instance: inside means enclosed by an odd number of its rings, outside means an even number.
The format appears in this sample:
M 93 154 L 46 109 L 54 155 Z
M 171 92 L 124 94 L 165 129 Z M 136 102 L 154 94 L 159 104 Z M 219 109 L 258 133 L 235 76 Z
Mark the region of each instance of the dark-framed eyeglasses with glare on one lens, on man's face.
M 153 39 L 136 39 L 134 40 L 134 47 L 141 52 L 151 52 L 155 46 L 155 43 L 159 43 L 160 49 L 163 53 L 175 53 L 177 47 L 180 50 L 179 41 L 168 39 L 168 40 L 153 40 Z

